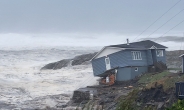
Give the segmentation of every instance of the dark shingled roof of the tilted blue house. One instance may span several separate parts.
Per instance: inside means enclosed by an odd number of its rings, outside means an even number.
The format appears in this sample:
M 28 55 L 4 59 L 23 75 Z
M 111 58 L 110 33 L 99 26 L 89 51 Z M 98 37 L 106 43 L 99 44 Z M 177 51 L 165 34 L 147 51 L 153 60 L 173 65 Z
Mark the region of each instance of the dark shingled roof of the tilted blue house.
M 167 48 L 167 47 L 165 47 L 163 45 L 160 45 L 156 42 L 153 42 L 151 40 L 133 42 L 133 43 L 129 43 L 129 45 L 127 45 L 127 44 L 110 45 L 110 46 L 107 46 L 107 47 L 150 49 L 150 48 L 152 48 L 152 46 L 154 46 L 156 48 Z

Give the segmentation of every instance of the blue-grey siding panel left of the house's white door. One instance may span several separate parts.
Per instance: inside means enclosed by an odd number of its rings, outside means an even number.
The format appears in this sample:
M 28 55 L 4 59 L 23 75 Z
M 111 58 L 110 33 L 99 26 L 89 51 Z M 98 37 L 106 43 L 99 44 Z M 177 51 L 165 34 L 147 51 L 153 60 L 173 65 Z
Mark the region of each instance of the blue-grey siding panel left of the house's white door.
M 92 60 L 93 73 L 95 76 L 106 71 L 105 57 Z

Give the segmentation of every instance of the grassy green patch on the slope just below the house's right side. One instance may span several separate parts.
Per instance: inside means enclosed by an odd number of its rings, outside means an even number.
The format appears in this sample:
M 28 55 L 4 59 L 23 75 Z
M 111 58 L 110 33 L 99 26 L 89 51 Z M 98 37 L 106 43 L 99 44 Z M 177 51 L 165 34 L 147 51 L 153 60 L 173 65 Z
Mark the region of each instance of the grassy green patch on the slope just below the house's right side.
M 152 82 L 155 82 L 157 80 L 160 80 L 160 79 L 164 78 L 168 74 L 170 74 L 170 72 L 168 72 L 168 71 L 164 71 L 162 73 L 156 73 L 156 74 L 147 73 L 147 74 L 144 74 L 139 79 L 138 83 L 140 83 L 140 84 L 142 84 L 142 83 L 143 84 L 152 83 Z

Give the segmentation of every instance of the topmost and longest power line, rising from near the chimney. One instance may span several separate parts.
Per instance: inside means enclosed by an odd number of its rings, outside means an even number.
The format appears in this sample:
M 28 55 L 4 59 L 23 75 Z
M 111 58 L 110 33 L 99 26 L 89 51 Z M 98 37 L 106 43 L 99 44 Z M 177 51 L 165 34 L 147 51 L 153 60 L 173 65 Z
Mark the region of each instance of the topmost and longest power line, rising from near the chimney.
M 135 41 L 140 35 L 142 35 L 145 31 L 147 31 L 152 25 L 154 25 L 159 19 L 161 19 L 165 14 L 167 14 L 172 8 L 174 8 L 181 0 L 176 2 L 171 8 L 169 8 L 164 14 L 162 14 L 160 17 L 158 17 L 151 25 L 149 25 L 144 31 L 142 31 L 136 38 L 133 40 Z

